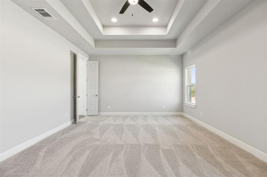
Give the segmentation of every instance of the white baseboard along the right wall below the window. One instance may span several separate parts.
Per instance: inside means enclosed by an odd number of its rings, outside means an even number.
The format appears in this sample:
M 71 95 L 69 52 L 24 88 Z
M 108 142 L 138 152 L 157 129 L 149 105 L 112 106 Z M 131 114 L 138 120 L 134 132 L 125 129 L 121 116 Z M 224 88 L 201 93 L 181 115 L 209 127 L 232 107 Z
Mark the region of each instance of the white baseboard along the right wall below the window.
M 262 152 L 256 148 L 253 148 L 252 146 L 250 146 L 250 145 L 248 145 L 248 144 L 246 144 L 246 143 L 244 143 L 244 142 L 242 142 L 242 141 L 240 141 L 240 140 L 238 140 L 238 139 L 236 139 L 236 138 L 234 138 L 234 137 L 232 137 L 232 136 L 230 136 L 230 135 L 228 135 L 228 134 L 226 134 L 226 133 L 224 133 L 224 132 L 222 132 L 222 131 L 220 131 L 220 130 L 218 130 L 218 129 L 216 129 L 216 128 L 214 128 L 214 127 L 212 127 L 212 126 L 210 126 L 210 125 L 208 125 L 208 124 L 206 124 L 206 123 L 204 123 L 204 122 L 202 122 L 202 121 L 200 121 L 200 120 L 198 120 L 198 119 L 196 119 L 190 115 L 188 115 L 188 114 L 186 114 L 186 113 L 183 113 L 183 115 L 185 117 L 187 117 L 188 119 L 196 122 L 197 124 L 201 125 L 202 127 L 212 131 L 216 135 L 219 135 L 220 137 L 233 143 L 234 145 L 238 146 L 239 148 L 246 150 L 247 152 L 251 153 L 252 155 L 255 155 L 257 158 L 259 158 L 260 160 L 263 160 L 264 162 L 267 163 L 267 154 L 266 153 L 264 153 L 264 152 Z

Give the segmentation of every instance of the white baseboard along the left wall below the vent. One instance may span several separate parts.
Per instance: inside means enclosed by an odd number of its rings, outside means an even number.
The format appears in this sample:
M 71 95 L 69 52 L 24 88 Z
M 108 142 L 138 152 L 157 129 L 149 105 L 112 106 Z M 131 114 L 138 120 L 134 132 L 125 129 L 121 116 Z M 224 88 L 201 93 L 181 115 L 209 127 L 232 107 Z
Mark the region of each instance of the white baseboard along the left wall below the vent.
M 24 150 L 26 148 L 34 145 L 35 143 L 43 140 L 44 138 L 46 138 L 46 137 L 48 137 L 48 136 L 50 136 L 50 135 L 62 130 L 63 128 L 68 127 L 69 125 L 72 124 L 72 122 L 73 122 L 73 120 L 68 121 L 68 122 L 66 122 L 66 123 L 64 123 L 64 124 L 62 124 L 62 125 L 60 125 L 60 126 L 58 126 L 56 128 L 53 128 L 52 130 L 49 130 L 49 131 L 47 131 L 47 132 L 45 132 L 45 133 L 43 133 L 43 134 L 41 134 L 41 135 L 39 135 L 37 137 L 32 138 L 31 140 L 23 142 L 20 145 L 17 145 L 14 148 L 11 148 L 11 149 L 1 153 L 0 154 L 0 162 L 5 160 L 5 159 L 7 159 L 7 158 L 9 158 L 9 157 L 11 157 L 12 155 L 15 155 L 15 154 L 19 153 L 20 151 L 22 151 L 22 150 Z

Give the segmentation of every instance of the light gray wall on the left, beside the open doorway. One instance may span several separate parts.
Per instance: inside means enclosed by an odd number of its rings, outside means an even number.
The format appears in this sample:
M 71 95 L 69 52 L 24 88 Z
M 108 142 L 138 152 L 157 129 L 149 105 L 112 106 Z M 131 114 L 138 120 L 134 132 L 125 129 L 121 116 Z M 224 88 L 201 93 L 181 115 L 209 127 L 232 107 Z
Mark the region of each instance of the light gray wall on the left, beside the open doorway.
M 2 153 L 73 119 L 75 53 L 88 55 L 11 1 L 0 35 Z

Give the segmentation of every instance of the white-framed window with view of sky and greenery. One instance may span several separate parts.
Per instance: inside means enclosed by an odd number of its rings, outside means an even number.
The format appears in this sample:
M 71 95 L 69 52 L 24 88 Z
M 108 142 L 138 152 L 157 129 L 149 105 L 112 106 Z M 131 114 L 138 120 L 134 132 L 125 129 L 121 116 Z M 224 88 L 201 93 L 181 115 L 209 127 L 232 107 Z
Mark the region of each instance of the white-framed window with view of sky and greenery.
M 187 106 L 196 107 L 196 67 L 195 65 L 186 68 L 186 102 Z

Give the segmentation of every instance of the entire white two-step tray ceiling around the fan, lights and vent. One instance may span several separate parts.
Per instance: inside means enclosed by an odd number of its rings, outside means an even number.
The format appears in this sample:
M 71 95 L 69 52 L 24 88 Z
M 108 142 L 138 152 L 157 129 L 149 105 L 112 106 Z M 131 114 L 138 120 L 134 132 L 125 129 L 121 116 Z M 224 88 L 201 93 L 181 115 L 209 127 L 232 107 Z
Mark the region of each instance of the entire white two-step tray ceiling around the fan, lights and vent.
M 176 55 L 201 42 L 229 19 L 249 13 L 253 0 L 146 0 L 151 14 L 138 4 L 124 14 L 125 0 L 12 0 L 88 55 Z M 46 8 L 57 20 L 31 10 Z M 103 8 L 101 8 L 103 7 Z M 111 22 L 116 17 L 118 22 Z M 157 17 L 159 22 L 152 22 Z

